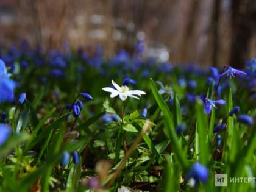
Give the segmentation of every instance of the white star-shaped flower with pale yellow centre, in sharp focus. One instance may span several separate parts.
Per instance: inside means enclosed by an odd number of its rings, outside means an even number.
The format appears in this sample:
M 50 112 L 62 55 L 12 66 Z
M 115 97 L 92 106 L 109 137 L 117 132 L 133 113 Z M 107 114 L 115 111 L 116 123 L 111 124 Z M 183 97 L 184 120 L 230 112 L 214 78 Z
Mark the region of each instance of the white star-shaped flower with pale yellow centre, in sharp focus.
M 116 96 L 119 95 L 119 98 L 122 100 L 122 101 L 125 101 L 127 99 L 127 96 L 128 97 L 131 97 L 131 98 L 136 98 L 136 99 L 139 99 L 137 96 L 141 96 L 141 94 L 146 94 L 144 91 L 141 91 L 141 90 L 129 90 L 129 88 L 125 85 L 122 85 L 121 87 L 116 84 L 115 81 L 111 81 L 113 86 L 116 88 L 111 88 L 111 87 L 104 87 L 102 88 L 102 90 L 104 91 L 107 91 L 107 92 L 110 92 L 110 98 L 115 98 Z M 137 96 L 135 96 L 137 95 Z

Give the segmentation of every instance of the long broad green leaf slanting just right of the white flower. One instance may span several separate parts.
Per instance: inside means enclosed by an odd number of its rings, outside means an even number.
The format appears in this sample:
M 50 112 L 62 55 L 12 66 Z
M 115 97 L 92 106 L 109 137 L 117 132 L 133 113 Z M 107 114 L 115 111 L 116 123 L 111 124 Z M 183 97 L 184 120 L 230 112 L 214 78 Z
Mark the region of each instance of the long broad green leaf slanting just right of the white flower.
M 166 121 L 165 129 L 166 129 L 166 132 L 168 133 L 169 138 L 171 139 L 172 149 L 173 149 L 175 155 L 177 155 L 177 160 L 180 163 L 180 165 L 182 166 L 182 168 L 187 170 L 188 162 L 185 157 L 185 152 L 182 150 L 182 146 L 181 146 L 181 144 L 178 140 L 178 137 L 176 135 L 176 132 L 174 130 L 173 116 L 172 116 L 171 112 L 169 111 L 169 108 L 168 108 L 166 102 L 163 101 L 162 96 L 160 96 L 160 94 L 158 93 L 158 90 L 155 87 L 154 81 L 152 79 L 150 81 L 150 85 L 151 85 L 151 90 L 154 95 L 154 98 L 157 101 L 159 107 L 161 108 L 161 110 L 163 112 L 164 119 Z

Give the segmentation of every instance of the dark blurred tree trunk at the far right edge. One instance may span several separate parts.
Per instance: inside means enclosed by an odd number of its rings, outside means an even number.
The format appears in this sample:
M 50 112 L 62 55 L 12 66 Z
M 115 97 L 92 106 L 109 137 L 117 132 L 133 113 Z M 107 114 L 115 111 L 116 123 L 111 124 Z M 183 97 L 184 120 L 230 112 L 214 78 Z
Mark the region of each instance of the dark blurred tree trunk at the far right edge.
M 249 60 L 249 44 L 254 33 L 255 0 L 232 0 L 232 44 L 230 52 L 230 65 L 243 68 L 244 62 Z

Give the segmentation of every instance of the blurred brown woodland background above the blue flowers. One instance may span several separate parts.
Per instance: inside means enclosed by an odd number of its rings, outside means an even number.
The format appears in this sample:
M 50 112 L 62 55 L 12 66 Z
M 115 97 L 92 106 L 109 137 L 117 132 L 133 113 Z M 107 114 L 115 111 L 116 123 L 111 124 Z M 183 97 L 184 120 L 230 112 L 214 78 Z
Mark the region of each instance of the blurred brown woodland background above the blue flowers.
M 243 68 L 256 52 L 254 0 L 1 0 L 1 46 L 101 44 L 107 57 L 145 40 L 172 63 Z

